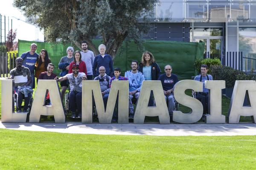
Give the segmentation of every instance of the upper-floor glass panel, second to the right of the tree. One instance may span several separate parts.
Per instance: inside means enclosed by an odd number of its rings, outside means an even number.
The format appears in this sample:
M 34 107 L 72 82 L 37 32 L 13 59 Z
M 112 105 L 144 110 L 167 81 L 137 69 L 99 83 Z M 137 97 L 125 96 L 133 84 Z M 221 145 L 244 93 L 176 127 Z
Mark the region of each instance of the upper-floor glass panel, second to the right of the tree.
M 195 20 L 207 20 L 206 2 L 188 2 L 186 3 L 186 18 Z

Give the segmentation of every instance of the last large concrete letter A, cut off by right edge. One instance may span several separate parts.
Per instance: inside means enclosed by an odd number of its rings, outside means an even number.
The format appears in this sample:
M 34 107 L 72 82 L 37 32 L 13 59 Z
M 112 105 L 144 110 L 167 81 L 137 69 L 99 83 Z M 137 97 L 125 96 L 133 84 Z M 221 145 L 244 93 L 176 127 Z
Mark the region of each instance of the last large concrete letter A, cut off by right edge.
M 251 106 L 243 107 L 244 96 L 248 91 Z M 253 116 L 256 122 L 256 82 L 254 80 L 236 80 L 228 110 L 228 123 L 239 123 L 240 116 Z

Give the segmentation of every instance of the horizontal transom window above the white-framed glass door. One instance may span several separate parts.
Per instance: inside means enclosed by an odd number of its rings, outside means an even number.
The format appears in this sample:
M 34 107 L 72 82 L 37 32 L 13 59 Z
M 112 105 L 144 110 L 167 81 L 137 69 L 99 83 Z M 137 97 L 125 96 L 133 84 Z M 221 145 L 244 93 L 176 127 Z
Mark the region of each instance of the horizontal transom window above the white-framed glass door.
M 222 36 L 222 28 L 194 28 L 194 37 Z

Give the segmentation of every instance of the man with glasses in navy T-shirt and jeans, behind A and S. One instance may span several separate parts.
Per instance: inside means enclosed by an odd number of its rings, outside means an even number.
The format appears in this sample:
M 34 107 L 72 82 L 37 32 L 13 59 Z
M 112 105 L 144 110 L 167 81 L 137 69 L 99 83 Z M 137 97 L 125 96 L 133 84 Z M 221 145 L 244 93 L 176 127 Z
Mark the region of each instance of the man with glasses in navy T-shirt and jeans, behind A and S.
M 174 85 L 179 81 L 176 74 L 172 74 L 172 66 L 166 65 L 164 67 L 165 74 L 161 74 L 158 80 L 162 82 L 163 86 L 163 94 L 166 98 L 166 102 L 168 102 L 168 111 L 169 115 L 172 116 L 173 108 L 174 108 Z

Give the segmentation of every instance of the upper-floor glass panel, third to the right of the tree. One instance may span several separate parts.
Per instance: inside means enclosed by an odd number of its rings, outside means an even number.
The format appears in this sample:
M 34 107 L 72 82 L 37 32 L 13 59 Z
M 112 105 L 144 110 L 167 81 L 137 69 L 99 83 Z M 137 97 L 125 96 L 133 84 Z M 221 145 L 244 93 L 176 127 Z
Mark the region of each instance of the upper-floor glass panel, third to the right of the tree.
M 209 3 L 209 21 L 230 21 L 230 3 Z

